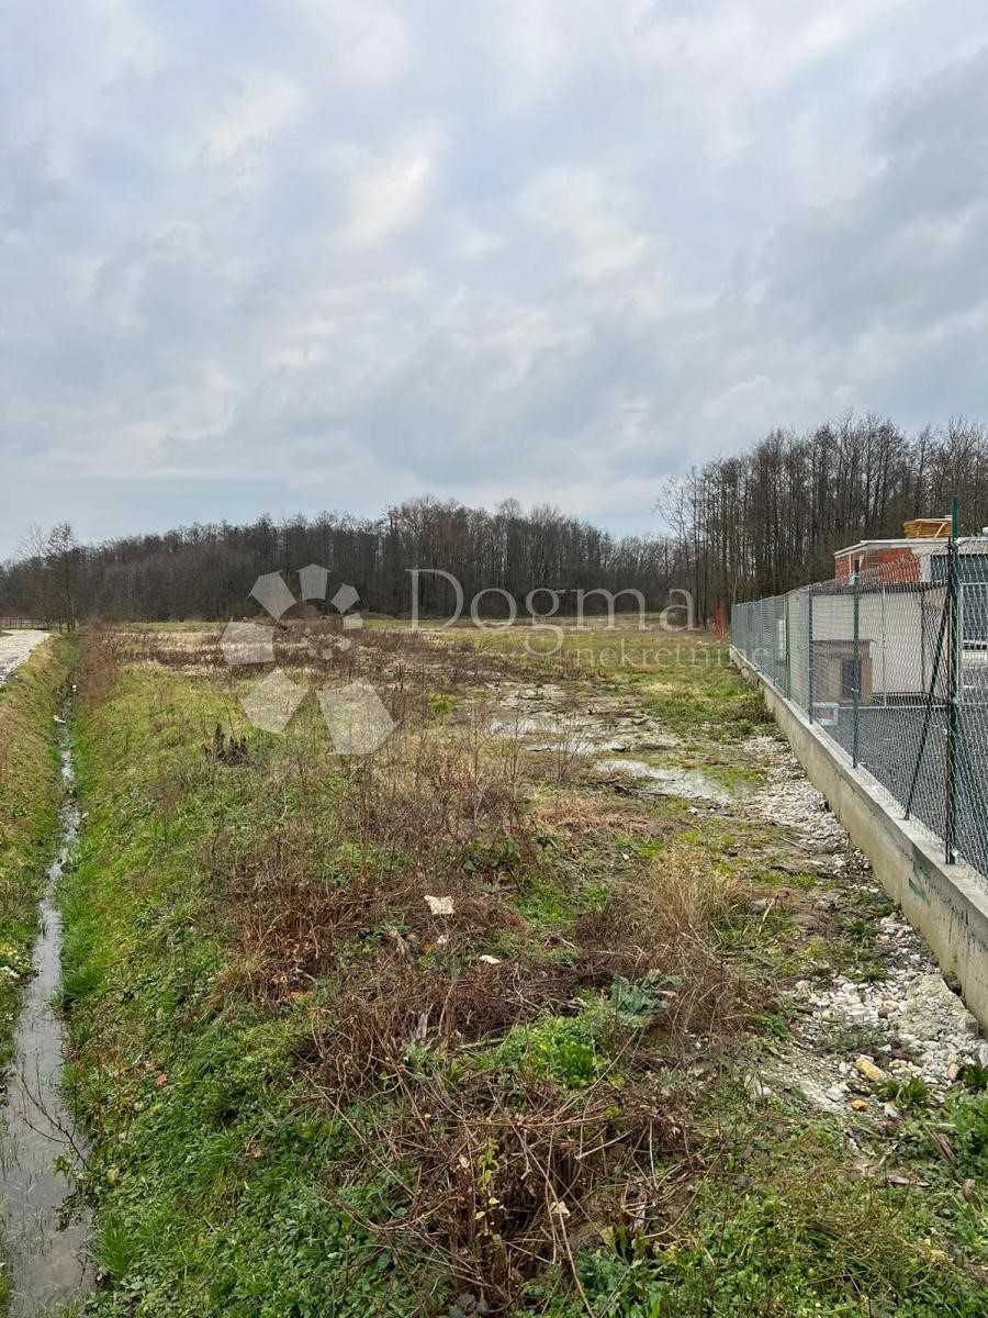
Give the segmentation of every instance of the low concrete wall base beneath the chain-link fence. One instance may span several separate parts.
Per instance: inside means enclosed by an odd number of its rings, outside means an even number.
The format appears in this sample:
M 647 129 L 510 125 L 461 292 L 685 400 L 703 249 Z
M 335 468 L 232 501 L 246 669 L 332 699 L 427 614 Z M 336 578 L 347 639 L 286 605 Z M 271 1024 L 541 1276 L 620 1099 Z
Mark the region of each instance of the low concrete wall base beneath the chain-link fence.
M 988 884 L 967 865 L 947 865 L 942 845 L 871 775 L 851 767 L 844 753 L 815 729 L 802 710 L 744 655 L 731 662 L 764 695 L 768 712 L 813 786 L 868 857 L 875 876 L 933 949 L 939 967 L 960 981 L 964 1002 L 988 1028 Z

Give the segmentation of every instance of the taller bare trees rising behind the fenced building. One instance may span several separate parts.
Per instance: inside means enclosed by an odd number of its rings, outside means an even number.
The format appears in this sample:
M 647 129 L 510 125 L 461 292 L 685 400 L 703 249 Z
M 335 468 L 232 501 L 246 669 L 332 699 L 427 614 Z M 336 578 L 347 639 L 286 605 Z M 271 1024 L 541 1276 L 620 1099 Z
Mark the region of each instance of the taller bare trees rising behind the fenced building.
M 834 552 L 901 536 L 960 497 L 962 532 L 988 523 L 988 428 L 951 419 L 905 434 L 887 418 L 847 415 L 802 432 L 773 430 L 747 452 L 665 482 L 660 507 L 678 584 L 697 613 L 781 594 L 834 576 Z

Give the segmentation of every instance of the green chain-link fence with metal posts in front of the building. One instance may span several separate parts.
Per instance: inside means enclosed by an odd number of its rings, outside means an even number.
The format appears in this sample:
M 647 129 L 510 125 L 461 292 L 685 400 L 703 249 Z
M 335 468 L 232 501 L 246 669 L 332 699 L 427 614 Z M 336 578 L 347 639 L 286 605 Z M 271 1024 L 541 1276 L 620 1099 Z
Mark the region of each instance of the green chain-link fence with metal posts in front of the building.
M 985 542 L 736 604 L 731 642 L 988 882 Z

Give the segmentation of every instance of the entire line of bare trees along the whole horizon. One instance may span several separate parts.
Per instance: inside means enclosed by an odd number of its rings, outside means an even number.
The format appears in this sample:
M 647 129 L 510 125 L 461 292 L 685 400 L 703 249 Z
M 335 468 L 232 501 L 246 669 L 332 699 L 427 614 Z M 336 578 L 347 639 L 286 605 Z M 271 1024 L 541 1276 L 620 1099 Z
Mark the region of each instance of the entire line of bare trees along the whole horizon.
M 34 532 L 0 565 L 0 613 L 74 625 L 78 618 L 169 621 L 257 612 L 254 580 L 316 563 L 360 592 L 361 608 L 447 617 L 453 573 L 478 612 L 503 616 L 506 596 L 578 589 L 639 590 L 649 609 L 672 589 L 692 592 L 698 621 L 734 601 L 779 594 L 834 575 L 835 550 L 902 534 L 912 517 L 943 515 L 960 496 L 964 532 L 988 523 L 988 428 L 951 419 L 906 434 L 873 415 L 847 415 L 802 432 L 773 430 L 747 452 L 715 457 L 664 482 L 661 532 L 617 538 L 549 505 L 495 511 L 425 497 L 378 518 L 335 513 L 275 523 L 263 515 L 79 544 L 67 523 Z M 335 590 L 331 585 L 329 593 Z M 416 590 L 415 600 L 411 592 Z M 503 593 L 501 593 L 503 592 Z M 536 610 L 549 612 L 549 596 Z M 597 608 L 602 606 L 595 601 Z M 588 612 L 594 601 L 588 604 Z M 630 596 L 618 608 L 636 608 Z

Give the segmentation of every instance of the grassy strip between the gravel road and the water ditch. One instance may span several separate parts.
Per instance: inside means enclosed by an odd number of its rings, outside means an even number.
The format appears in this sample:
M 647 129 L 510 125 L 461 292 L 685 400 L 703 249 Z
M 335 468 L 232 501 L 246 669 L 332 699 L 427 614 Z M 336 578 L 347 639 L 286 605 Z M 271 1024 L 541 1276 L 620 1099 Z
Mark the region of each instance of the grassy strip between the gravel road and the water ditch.
M 71 643 L 49 641 L 0 684 L 0 1069 L 11 1064 L 13 1025 L 30 973 L 37 903 L 58 825 L 58 713 L 72 663 Z M 0 1311 L 8 1301 L 0 1272 Z

